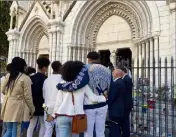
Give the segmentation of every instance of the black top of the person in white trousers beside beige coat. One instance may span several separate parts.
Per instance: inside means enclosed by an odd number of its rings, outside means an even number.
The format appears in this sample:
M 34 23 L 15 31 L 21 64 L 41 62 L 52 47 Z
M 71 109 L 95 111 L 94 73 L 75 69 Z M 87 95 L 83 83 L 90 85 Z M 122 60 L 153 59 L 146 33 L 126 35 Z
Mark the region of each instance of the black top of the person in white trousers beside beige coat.
M 32 80 L 32 98 L 35 106 L 34 116 L 43 116 L 44 109 L 42 108 L 44 99 L 43 99 L 43 83 L 47 76 L 42 73 L 36 73 L 31 76 Z

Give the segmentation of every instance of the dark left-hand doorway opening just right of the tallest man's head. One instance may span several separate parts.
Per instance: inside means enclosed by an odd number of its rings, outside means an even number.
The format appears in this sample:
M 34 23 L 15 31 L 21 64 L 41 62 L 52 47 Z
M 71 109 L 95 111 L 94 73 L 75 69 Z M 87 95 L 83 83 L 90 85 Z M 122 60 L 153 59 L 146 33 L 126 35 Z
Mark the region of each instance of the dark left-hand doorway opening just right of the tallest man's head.
M 109 50 L 99 50 L 100 63 L 105 67 L 109 66 L 110 63 L 110 51 Z

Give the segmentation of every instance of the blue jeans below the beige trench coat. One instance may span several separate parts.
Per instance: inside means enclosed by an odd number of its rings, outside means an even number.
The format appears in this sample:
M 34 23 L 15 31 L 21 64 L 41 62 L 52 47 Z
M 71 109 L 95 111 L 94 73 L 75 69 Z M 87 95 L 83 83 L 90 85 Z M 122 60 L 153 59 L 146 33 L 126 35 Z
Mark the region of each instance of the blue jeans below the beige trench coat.
M 17 122 L 6 122 L 7 131 L 3 137 L 17 137 L 17 134 L 20 135 L 20 123 Z M 19 132 L 19 133 L 18 133 Z

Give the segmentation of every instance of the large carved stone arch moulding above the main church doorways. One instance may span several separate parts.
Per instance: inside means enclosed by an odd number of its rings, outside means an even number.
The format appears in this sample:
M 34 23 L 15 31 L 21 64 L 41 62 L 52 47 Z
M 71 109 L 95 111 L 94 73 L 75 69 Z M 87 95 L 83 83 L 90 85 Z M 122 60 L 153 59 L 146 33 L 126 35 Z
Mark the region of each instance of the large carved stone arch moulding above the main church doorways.
M 87 1 L 75 18 L 72 45 L 95 49 L 100 27 L 113 15 L 126 20 L 134 42 L 151 35 L 152 15 L 145 1 Z

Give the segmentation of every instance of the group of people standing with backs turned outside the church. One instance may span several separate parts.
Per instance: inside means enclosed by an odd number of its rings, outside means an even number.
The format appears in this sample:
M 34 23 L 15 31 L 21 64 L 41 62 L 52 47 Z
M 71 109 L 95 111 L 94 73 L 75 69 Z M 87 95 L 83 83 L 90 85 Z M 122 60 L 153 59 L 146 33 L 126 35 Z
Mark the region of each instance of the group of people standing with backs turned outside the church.
M 95 51 L 87 58 L 88 64 L 54 61 L 53 74 L 47 77 L 49 59 L 37 59 L 36 73 L 15 57 L 1 79 L 3 137 L 19 137 L 21 124 L 28 121 L 27 137 L 33 137 L 38 123 L 39 137 L 52 137 L 54 131 L 56 137 L 79 137 L 72 133 L 75 115 L 87 116 L 84 137 L 93 137 L 94 131 L 96 137 L 105 137 L 106 119 L 109 137 L 130 137 L 133 84 L 127 68 L 112 72 L 99 63 Z

